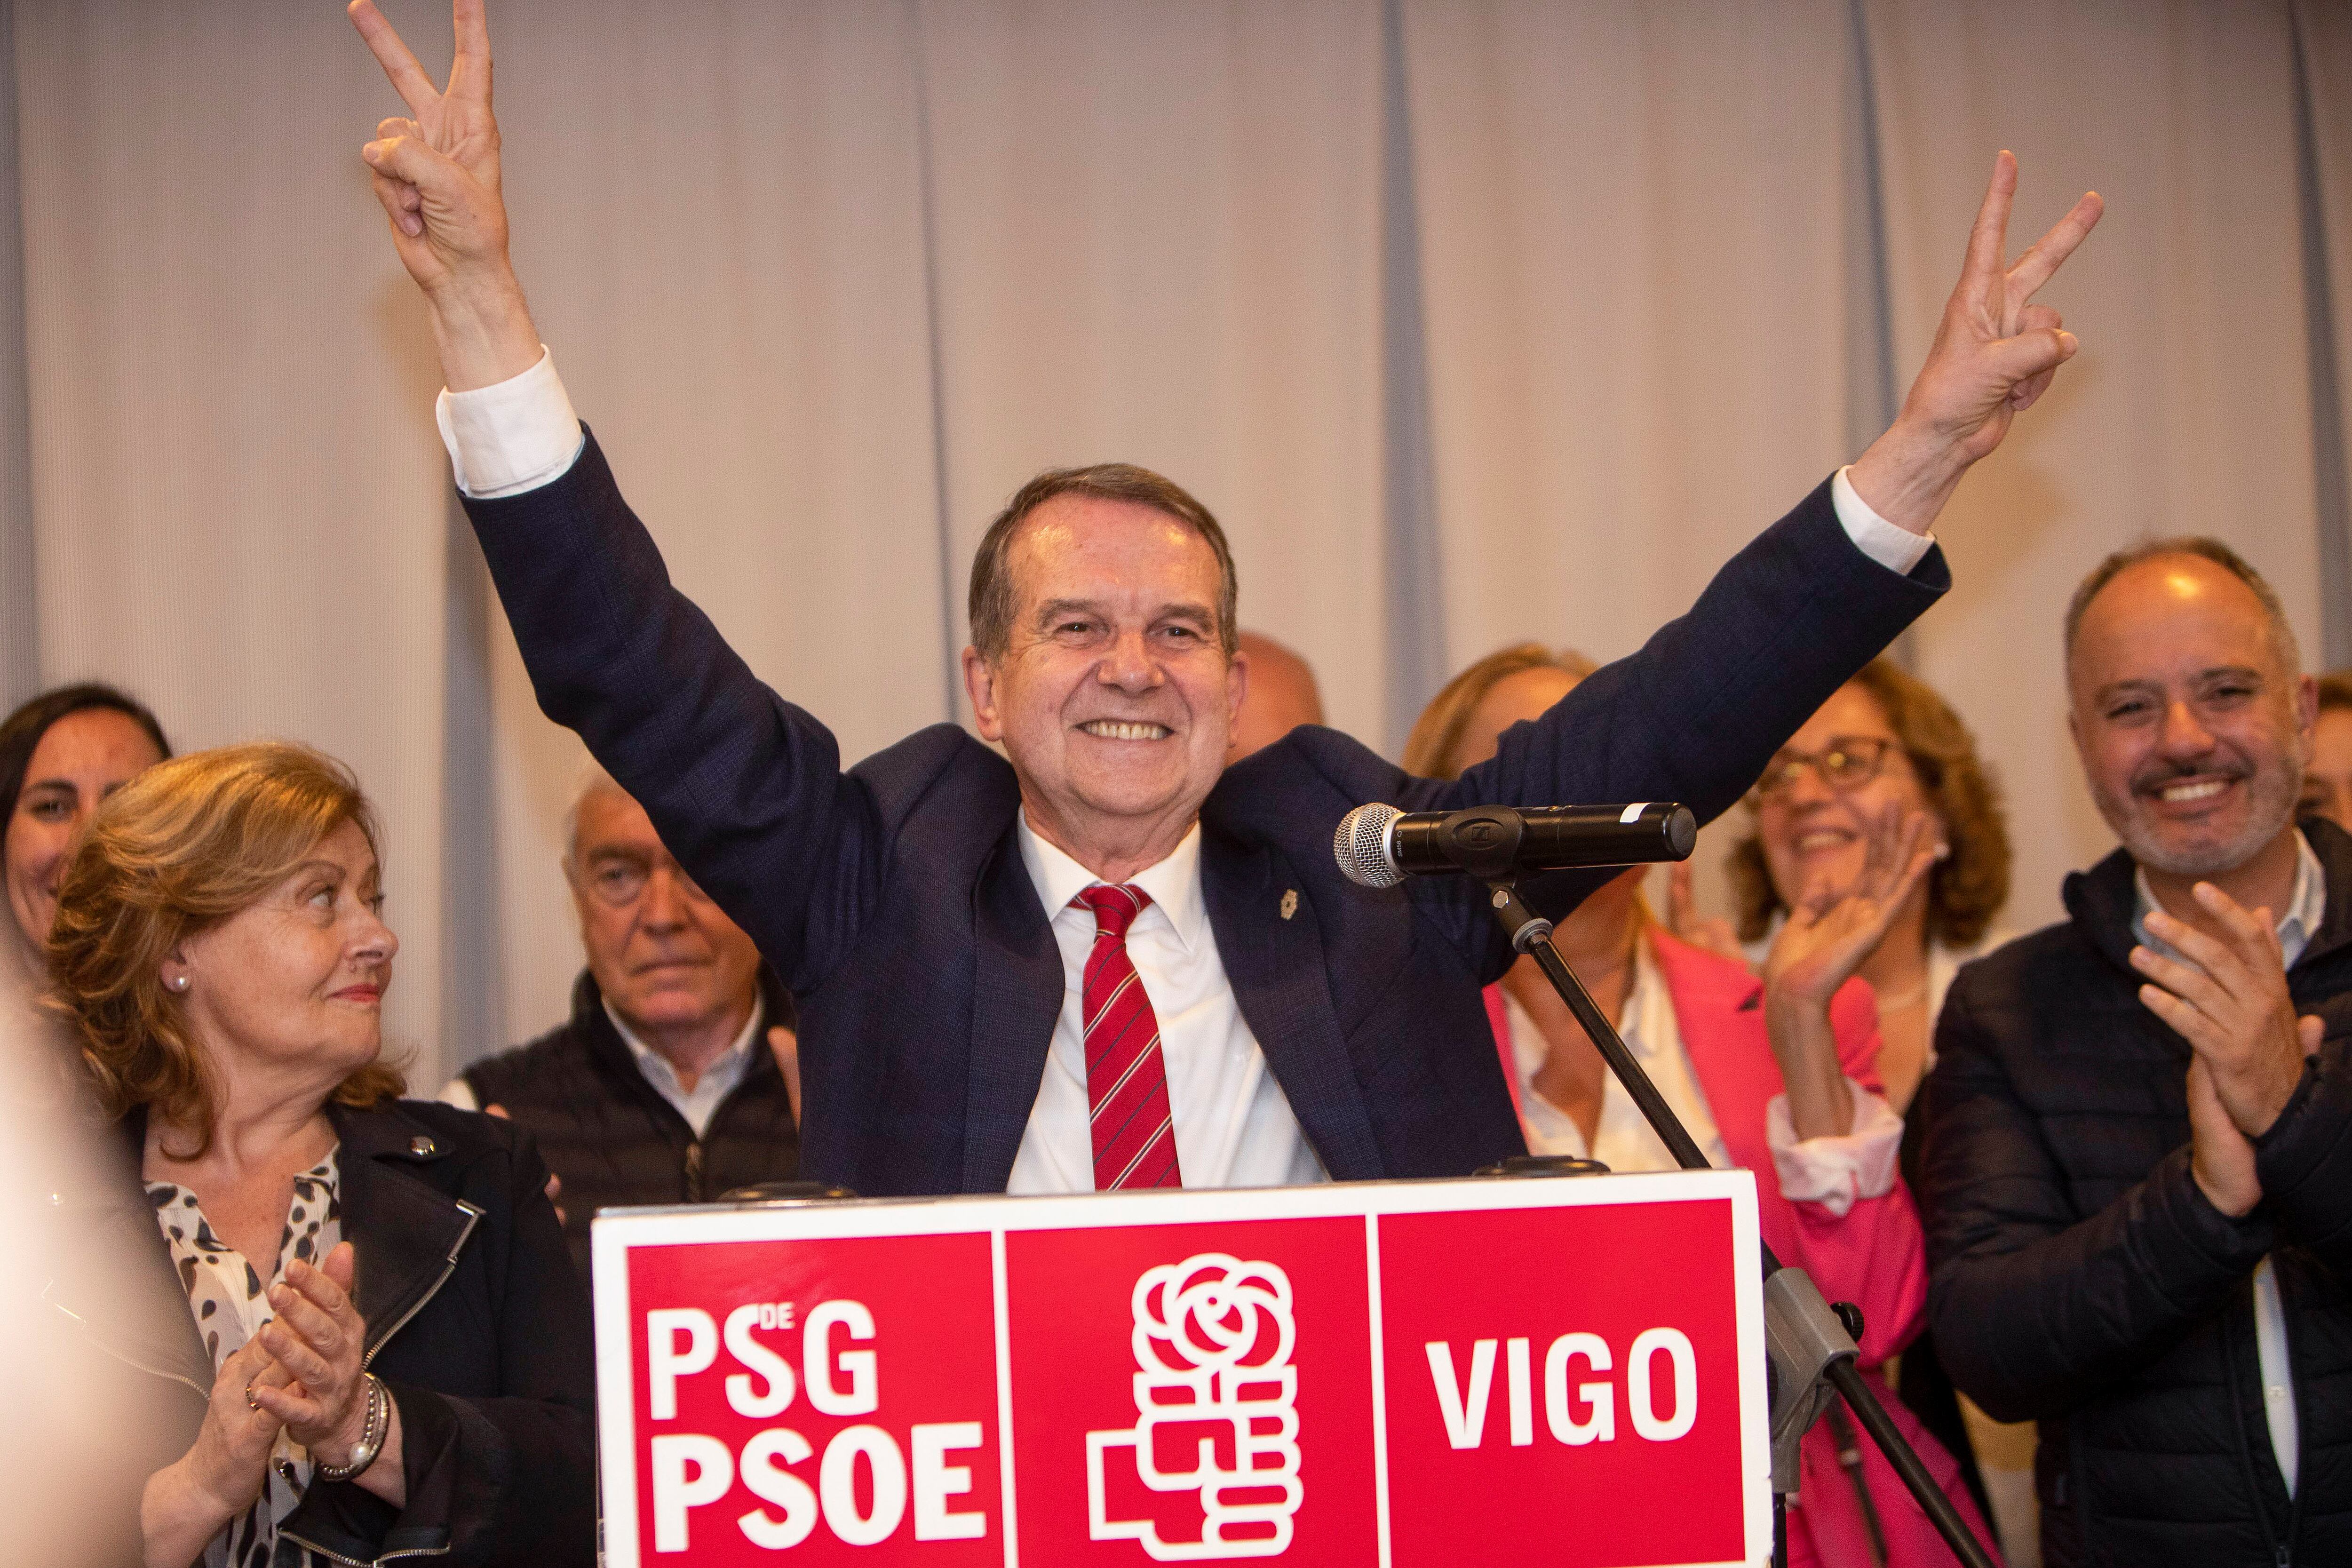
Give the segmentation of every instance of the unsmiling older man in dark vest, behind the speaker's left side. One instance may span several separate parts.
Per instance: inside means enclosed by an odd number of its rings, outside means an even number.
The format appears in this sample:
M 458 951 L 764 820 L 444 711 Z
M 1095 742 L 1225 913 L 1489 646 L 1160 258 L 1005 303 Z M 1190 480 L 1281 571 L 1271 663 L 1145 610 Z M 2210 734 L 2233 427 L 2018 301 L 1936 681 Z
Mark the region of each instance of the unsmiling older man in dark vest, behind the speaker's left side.
M 800 1171 L 793 997 L 597 773 L 572 804 L 564 879 L 588 969 L 572 1018 L 456 1074 L 442 1100 L 529 1128 L 572 1255 L 614 1204 L 701 1204 Z

